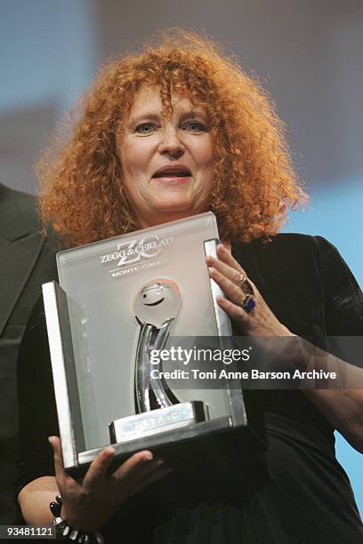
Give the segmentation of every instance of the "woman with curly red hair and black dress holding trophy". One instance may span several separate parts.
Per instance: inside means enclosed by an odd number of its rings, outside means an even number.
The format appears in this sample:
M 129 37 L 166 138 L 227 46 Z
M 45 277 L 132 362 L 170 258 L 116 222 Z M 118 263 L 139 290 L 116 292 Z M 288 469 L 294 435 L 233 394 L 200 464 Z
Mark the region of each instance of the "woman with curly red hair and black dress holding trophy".
M 205 39 L 182 31 L 165 35 L 104 68 L 69 140 L 45 156 L 40 176 L 44 224 L 51 221 L 69 246 L 212 210 L 223 244 L 218 260 L 207 264 L 239 333 L 320 341 L 362 332 L 362 294 L 335 248 L 319 237 L 277 236 L 286 208 L 305 198 L 283 124 L 259 84 Z M 242 276 L 254 308 L 246 308 Z M 52 468 L 46 436 L 58 428 L 45 350 L 39 306 L 20 356 L 18 492 L 28 524 L 52 523 L 48 505 L 60 492 L 60 514 L 69 526 L 102 528 L 112 542 L 363 540 L 333 436 L 339 428 L 362 447 L 361 391 L 260 392 L 267 482 L 246 504 L 206 498 L 173 510 L 157 480 L 170 479 L 176 489 L 193 483 L 168 474 L 152 452 L 108 471 L 114 455 L 108 447 L 77 482 L 64 472 L 60 441 L 52 436 Z M 304 367 L 294 355 L 291 364 Z M 36 429 L 29 413 L 39 420 Z M 57 515 L 60 508 L 52 508 Z

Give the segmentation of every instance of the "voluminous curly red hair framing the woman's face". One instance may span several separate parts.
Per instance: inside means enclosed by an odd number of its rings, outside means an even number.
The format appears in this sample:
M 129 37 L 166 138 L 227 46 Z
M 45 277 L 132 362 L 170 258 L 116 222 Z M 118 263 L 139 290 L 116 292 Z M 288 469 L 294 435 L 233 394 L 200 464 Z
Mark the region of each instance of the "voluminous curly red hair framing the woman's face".
M 171 94 L 206 108 L 214 143 L 210 210 L 221 236 L 248 242 L 277 234 L 287 207 L 306 200 L 295 176 L 285 125 L 261 85 L 214 42 L 181 29 L 113 60 L 81 100 L 64 138 L 37 165 L 44 224 L 79 245 L 140 226 L 123 186 L 117 127 L 142 85 L 157 85 L 165 112 Z M 60 146 L 59 146 L 60 144 Z

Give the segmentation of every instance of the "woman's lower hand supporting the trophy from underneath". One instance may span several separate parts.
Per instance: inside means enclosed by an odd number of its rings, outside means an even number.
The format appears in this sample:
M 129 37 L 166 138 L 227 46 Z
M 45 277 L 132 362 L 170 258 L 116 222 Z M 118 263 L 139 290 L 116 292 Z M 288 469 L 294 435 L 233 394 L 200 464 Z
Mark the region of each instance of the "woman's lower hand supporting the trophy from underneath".
M 143 451 L 134 453 L 114 472 L 109 472 L 115 450 L 108 446 L 93 460 L 82 480 L 77 481 L 64 470 L 60 438 L 51 436 L 49 442 L 63 500 L 61 516 L 80 531 L 100 529 L 125 500 L 171 471 L 163 460 L 153 459 L 151 452 Z

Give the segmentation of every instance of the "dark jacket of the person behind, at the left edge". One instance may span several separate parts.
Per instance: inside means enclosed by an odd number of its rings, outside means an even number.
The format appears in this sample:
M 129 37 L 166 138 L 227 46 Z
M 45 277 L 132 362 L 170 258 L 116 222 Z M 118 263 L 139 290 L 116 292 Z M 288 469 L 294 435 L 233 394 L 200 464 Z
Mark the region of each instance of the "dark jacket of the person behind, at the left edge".
M 0 524 L 12 524 L 17 451 L 16 360 L 41 285 L 56 274 L 36 199 L 0 184 Z

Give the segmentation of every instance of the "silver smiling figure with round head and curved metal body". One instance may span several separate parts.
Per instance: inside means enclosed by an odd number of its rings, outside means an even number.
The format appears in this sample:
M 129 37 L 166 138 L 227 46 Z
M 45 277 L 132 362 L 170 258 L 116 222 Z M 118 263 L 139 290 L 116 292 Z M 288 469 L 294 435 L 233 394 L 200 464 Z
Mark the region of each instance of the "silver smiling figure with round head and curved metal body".
M 149 352 L 151 349 L 164 349 L 180 308 L 181 291 L 178 284 L 170 279 L 151 280 L 143 284 L 136 293 L 133 315 L 141 324 L 135 368 L 135 392 L 139 412 L 149 412 L 152 409 L 152 398 L 158 408 L 178 402 L 161 380 L 151 378 Z M 161 371 L 160 366 L 161 362 Z

